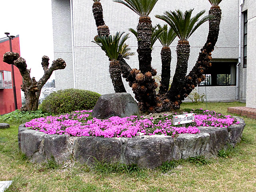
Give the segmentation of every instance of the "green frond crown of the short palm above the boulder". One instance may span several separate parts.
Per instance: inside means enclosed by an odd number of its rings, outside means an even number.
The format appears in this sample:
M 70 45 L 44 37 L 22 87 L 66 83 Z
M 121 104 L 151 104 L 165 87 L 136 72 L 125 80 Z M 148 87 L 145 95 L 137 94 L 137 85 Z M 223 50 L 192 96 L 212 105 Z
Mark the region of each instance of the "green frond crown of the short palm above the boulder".
M 93 42 L 98 44 L 102 48 L 102 50 L 106 52 L 106 55 L 110 58 L 111 61 L 116 61 L 118 58 L 118 54 L 122 52 L 124 42 L 129 38 L 128 34 L 125 34 L 122 37 L 123 34 L 124 32 L 122 32 L 121 34 L 120 32 L 116 32 L 114 36 L 97 36 L 97 38 Z

